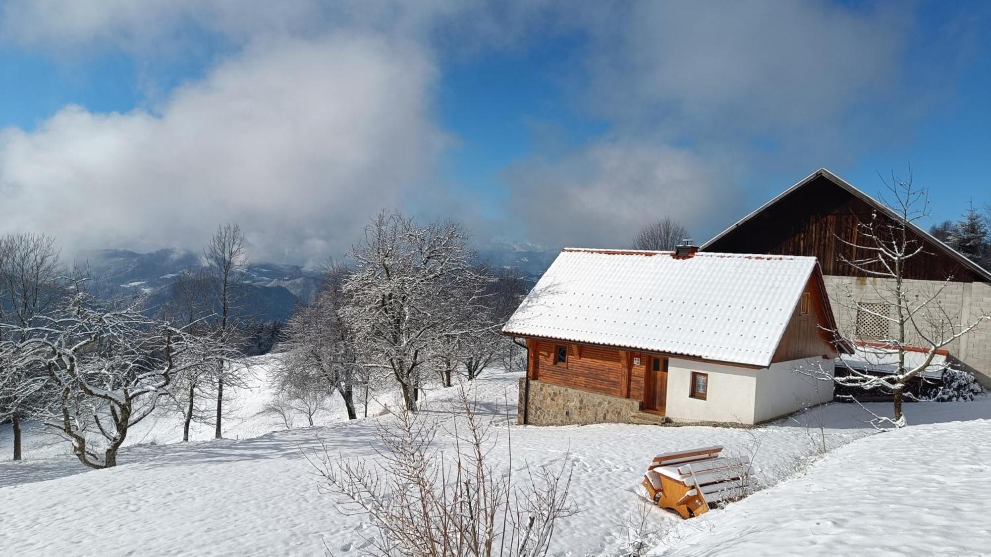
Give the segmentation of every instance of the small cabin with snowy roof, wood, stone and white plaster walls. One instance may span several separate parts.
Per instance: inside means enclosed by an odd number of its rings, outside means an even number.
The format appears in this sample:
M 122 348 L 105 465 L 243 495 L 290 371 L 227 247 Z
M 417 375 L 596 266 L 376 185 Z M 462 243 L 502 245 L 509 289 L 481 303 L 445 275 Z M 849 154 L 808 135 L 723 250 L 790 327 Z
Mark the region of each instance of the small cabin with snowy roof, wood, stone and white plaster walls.
M 832 398 L 815 258 L 565 249 L 502 332 L 525 338 L 519 420 L 754 424 Z M 849 347 L 841 347 L 849 351 Z

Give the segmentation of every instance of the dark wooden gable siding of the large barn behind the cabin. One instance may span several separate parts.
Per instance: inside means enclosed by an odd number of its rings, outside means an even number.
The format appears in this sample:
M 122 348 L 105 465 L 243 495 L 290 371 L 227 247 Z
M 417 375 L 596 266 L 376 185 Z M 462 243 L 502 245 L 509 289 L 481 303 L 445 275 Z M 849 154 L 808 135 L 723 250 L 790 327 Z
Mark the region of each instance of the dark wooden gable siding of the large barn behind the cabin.
M 864 242 L 858 237 L 857 223 L 869 222 L 875 212 L 859 197 L 819 176 L 729 231 L 706 251 L 815 256 L 824 275 L 859 277 L 862 274 L 839 260 L 841 256 L 853 260 L 864 254 L 855 253 L 843 240 L 851 244 Z M 880 212 L 878 215 L 887 218 Z M 944 280 L 952 276 L 955 280 L 974 280 L 973 273 L 936 244 L 913 236 L 925 245 L 928 256 L 910 261 L 906 278 Z

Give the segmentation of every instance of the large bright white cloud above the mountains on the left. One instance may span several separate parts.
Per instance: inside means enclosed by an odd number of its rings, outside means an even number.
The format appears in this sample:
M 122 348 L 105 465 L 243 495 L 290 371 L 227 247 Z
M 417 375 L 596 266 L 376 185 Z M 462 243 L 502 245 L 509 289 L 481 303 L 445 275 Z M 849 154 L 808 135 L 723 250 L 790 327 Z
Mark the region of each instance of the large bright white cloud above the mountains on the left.
M 340 253 L 429 173 L 435 80 L 416 44 L 378 36 L 253 44 L 154 111 L 68 106 L 0 132 L 0 222 L 140 250 L 195 248 L 234 220 L 256 258 Z

